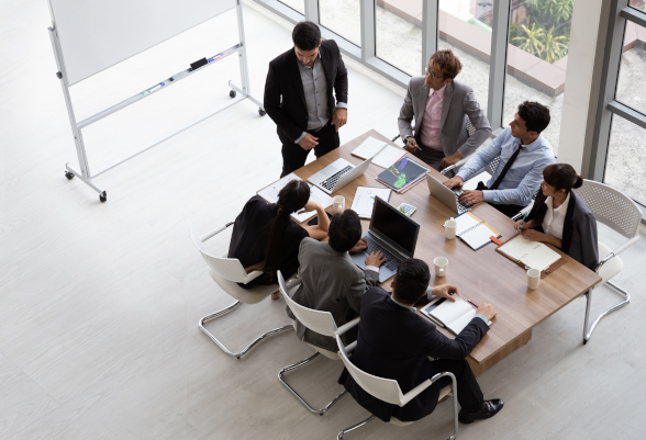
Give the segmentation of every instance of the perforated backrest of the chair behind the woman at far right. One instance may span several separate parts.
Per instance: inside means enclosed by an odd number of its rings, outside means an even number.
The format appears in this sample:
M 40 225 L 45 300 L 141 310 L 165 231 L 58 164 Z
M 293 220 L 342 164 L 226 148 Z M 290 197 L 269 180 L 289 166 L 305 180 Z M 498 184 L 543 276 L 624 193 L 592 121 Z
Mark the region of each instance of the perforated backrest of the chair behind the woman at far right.
M 573 191 L 590 206 L 597 222 L 627 238 L 639 234 L 642 210 L 623 192 L 588 179 L 583 179 L 583 185 Z

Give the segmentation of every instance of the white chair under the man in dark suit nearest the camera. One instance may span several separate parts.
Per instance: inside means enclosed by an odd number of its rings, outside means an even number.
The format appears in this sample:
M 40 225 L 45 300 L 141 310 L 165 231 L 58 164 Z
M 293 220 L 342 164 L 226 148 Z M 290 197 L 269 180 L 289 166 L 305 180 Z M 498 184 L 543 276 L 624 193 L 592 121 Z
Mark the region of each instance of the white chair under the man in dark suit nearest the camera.
M 448 395 L 453 396 L 454 432 L 448 438 L 448 440 L 457 439 L 458 407 L 457 407 L 457 383 L 455 380 L 455 375 L 449 372 L 437 373 L 433 377 L 425 380 L 424 382 L 422 382 L 421 384 L 415 386 L 413 390 L 409 391 L 406 394 L 403 394 L 401 392 L 401 388 L 399 387 L 399 383 L 396 380 L 382 379 L 382 377 L 375 376 L 372 374 L 368 374 L 368 373 L 359 370 L 358 368 L 356 368 L 349 361 L 348 353 L 352 352 L 356 348 L 356 342 L 353 342 L 353 343 L 348 345 L 347 347 L 345 347 L 343 345 L 339 336 L 343 335 L 348 329 L 355 327 L 358 324 L 359 324 L 359 319 L 357 318 L 350 323 L 347 323 L 344 326 L 341 326 L 338 328 L 338 330 L 335 331 L 336 343 L 338 345 L 338 356 L 341 357 L 341 360 L 345 364 L 345 368 L 350 373 L 353 379 L 357 382 L 357 384 L 366 393 L 372 395 L 374 397 L 377 397 L 378 399 L 383 400 L 383 402 L 388 402 L 389 404 L 399 405 L 401 407 L 401 406 L 404 406 L 405 404 L 408 404 L 409 402 L 411 402 L 413 398 L 415 398 L 420 393 L 422 393 L 424 390 L 426 390 L 428 386 L 431 386 L 438 379 L 444 377 L 444 376 L 449 376 L 453 382 L 453 385 L 445 386 L 444 388 L 442 388 L 439 391 L 439 400 L 442 400 L 444 397 L 446 397 Z M 452 390 L 453 390 L 453 393 L 452 393 Z M 336 439 L 341 440 L 344 435 L 363 427 L 364 425 L 371 421 L 374 418 L 375 418 L 375 416 L 371 415 L 370 417 L 358 422 L 357 425 L 354 425 L 349 428 L 342 430 L 341 432 L 338 432 L 338 436 L 336 436 Z M 406 426 L 406 425 L 412 424 L 412 421 L 401 421 L 401 420 L 397 419 L 396 417 L 392 417 L 390 419 L 390 422 L 392 425 L 397 425 L 397 426 Z

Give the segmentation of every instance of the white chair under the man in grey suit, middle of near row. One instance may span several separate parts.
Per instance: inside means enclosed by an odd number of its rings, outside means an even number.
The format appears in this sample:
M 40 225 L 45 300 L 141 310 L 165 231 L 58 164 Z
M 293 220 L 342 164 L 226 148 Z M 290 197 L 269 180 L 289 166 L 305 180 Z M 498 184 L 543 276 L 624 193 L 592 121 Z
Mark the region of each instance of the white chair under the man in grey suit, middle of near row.
M 300 279 L 294 280 L 294 282 L 290 286 L 290 289 L 297 286 L 301 282 L 302 282 L 302 280 L 300 280 Z M 293 313 L 293 315 L 297 317 L 297 319 L 302 325 L 304 325 L 305 327 L 308 327 L 309 329 L 311 329 L 313 331 L 316 331 L 318 334 L 321 334 L 323 336 L 330 336 L 331 338 L 334 338 L 334 332 L 337 330 L 337 328 L 336 328 L 336 323 L 334 321 L 334 318 L 332 317 L 332 314 L 330 312 L 313 311 L 311 308 L 303 307 L 302 305 L 294 302 L 289 296 L 288 286 L 285 283 L 285 279 L 282 278 L 282 273 L 280 273 L 280 271 L 278 271 L 278 285 L 280 286 L 280 293 L 282 294 L 282 297 L 285 298 L 285 302 L 289 306 L 291 313 Z M 357 318 L 355 320 L 358 321 L 359 318 Z M 293 324 L 294 330 L 296 330 L 296 321 L 293 321 L 292 324 Z M 327 410 L 336 402 L 338 402 L 338 399 L 341 397 L 343 397 L 347 393 L 347 391 L 344 390 L 343 393 L 341 393 L 339 395 L 334 397 L 334 399 L 332 399 L 332 402 L 330 402 L 325 407 L 323 407 L 321 409 L 316 409 L 316 408 L 313 408 L 310 404 L 308 404 L 305 402 L 305 399 L 303 399 L 287 382 L 285 382 L 282 380 L 282 376 L 285 375 L 286 372 L 291 371 L 291 370 L 296 370 L 299 366 L 307 364 L 308 362 L 310 362 L 314 358 L 316 358 L 319 356 L 319 353 L 323 354 L 324 357 L 326 357 L 328 359 L 335 360 L 335 361 L 339 360 L 338 354 L 336 354 L 333 351 L 312 346 L 311 343 L 308 343 L 308 345 L 310 347 L 312 347 L 314 350 L 316 350 L 316 352 L 314 354 L 312 354 L 311 357 L 309 357 L 308 359 L 304 359 L 300 362 L 294 363 L 293 365 L 289 365 L 289 366 L 286 366 L 282 370 L 280 370 L 280 372 L 278 372 L 278 380 L 280 381 L 281 384 L 283 384 L 287 387 L 287 390 L 289 390 L 291 392 L 291 394 L 293 394 L 296 396 L 296 398 L 298 398 L 305 406 L 305 408 L 308 408 L 311 413 L 319 414 L 320 416 L 322 416 L 325 413 L 327 413 Z

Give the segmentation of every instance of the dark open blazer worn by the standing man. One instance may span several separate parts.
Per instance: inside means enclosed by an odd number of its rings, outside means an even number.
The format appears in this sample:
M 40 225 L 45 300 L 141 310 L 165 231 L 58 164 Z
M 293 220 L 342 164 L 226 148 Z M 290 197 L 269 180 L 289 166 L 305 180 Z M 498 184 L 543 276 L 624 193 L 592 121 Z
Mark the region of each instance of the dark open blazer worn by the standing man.
M 333 40 L 321 43 L 319 56 L 327 82 L 327 108 L 334 111 L 336 101 L 347 104 L 347 69 L 341 58 L 338 46 Z M 269 63 L 269 72 L 265 82 L 265 111 L 278 126 L 278 137 L 283 144 L 293 144 L 308 128 L 308 106 L 305 92 L 294 48 L 277 56 Z M 281 100 L 282 97 L 282 100 Z M 330 114 L 332 117 L 332 113 Z

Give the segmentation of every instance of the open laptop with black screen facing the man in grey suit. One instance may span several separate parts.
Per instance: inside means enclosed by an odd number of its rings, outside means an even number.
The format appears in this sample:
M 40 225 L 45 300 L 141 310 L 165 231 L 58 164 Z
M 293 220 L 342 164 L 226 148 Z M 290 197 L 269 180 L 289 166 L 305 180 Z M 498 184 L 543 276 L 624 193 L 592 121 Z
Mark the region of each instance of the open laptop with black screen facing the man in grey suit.
M 359 268 L 366 268 L 366 256 L 380 250 L 386 261 L 379 268 L 379 282 L 382 283 L 397 273 L 401 261 L 413 257 L 420 224 L 400 212 L 397 207 L 376 196 L 372 206 L 370 227 L 363 235 L 368 248 L 352 252 L 350 258 Z

